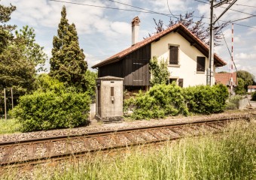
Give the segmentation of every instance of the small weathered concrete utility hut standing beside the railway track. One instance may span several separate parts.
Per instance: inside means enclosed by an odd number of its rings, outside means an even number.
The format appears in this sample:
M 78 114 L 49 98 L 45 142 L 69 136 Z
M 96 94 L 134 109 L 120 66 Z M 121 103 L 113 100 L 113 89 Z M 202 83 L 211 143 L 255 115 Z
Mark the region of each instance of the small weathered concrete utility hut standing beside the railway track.
M 123 78 L 96 79 L 96 119 L 105 122 L 123 119 Z

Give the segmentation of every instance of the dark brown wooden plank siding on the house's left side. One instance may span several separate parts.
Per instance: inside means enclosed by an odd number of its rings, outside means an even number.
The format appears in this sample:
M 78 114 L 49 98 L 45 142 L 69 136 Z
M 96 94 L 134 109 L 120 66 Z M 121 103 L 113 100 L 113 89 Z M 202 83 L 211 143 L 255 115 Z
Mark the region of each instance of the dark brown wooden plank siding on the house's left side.
M 99 67 L 98 77 L 123 77 L 123 86 L 149 86 L 151 43 L 142 46 L 120 61 Z

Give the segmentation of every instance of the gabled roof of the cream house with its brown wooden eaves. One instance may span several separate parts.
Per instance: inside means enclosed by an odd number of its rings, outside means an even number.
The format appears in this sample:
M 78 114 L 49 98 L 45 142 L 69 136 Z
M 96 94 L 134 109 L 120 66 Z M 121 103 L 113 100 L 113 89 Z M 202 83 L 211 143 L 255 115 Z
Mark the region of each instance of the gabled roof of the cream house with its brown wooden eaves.
M 195 46 L 197 49 L 200 50 L 200 52 L 202 52 L 204 55 L 206 55 L 206 57 L 208 57 L 209 55 L 209 48 L 208 46 L 206 46 L 205 43 L 203 43 L 202 40 L 200 40 L 199 38 L 197 38 L 191 31 L 189 31 L 184 25 L 182 25 L 181 23 L 176 24 L 170 28 L 167 28 L 164 31 L 161 31 L 160 33 L 157 33 L 151 37 L 146 38 L 145 40 L 140 41 L 139 43 L 134 44 L 133 46 L 130 46 L 127 49 L 124 49 L 121 52 L 118 52 L 115 55 L 112 55 L 110 58 L 105 59 L 102 62 L 99 62 L 97 65 L 94 65 L 92 68 L 99 68 L 101 66 L 104 65 L 108 65 L 111 64 L 113 62 L 118 62 L 121 58 L 123 58 L 125 55 L 128 55 L 130 52 L 133 52 L 139 48 L 141 48 L 142 46 L 147 45 L 148 43 L 152 43 L 155 40 L 159 40 L 160 37 L 163 37 L 166 34 L 169 34 L 170 32 L 178 32 L 179 34 L 181 34 L 181 36 L 183 36 L 187 41 L 190 42 L 191 46 Z M 221 67 L 226 65 L 226 62 L 224 62 L 218 55 L 214 55 L 214 59 L 215 59 L 215 65 L 217 67 Z

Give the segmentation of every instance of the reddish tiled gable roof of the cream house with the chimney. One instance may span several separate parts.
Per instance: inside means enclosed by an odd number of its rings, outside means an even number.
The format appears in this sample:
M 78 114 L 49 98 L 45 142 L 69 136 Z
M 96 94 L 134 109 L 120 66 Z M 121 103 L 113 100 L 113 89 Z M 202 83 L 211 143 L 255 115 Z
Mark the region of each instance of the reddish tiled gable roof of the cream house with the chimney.
M 92 68 L 98 68 L 101 67 L 103 65 L 108 65 L 111 64 L 112 62 L 117 62 L 120 60 L 120 58 L 123 58 L 125 55 L 128 55 L 130 52 L 135 51 L 136 49 L 139 49 L 142 46 L 147 45 L 148 43 L 153 42 L 154 40 L 158 40 L 160 37 L 163 37 L 164 35 L 168 34 L 169 32 L 178 30 L 178 28 L 180 28 L 181 30 L 183 30 L 185 32 L 185 34 L 187 34 L 191 39 L 193 39 L 195 42 L 198 43 L 198 45 L 206 50 L 209 53 L 209 47 L 206 46 L 205 43 L 203 43 L 202 40 L 200 40 L 199 38 L 197 38 L 190 30 L 188 30 L 184 25 L 182 25 L 181 23 L 178 23 L 170 28 L 167 28 L 164 31 L 161 31 L 160 33 L 157 33 L 151 37 L 146 38 L 145 40 L 140 41 L 139 43 L 134 44 L 133 46 L 130 46 L 127 49 L 124 49 L 121 52 L 118 52 L 115 55 L 112 55 L 111 57 L 105 59 L 102 62 L 99 62 L 97 65 L 93 65 Z M 224 62 L 224 60 L 222 60 L 218 55 L 214 55 L 215 61 L 217 61 L 219 63 L 220 66 L 226 65 L 226 62 Z

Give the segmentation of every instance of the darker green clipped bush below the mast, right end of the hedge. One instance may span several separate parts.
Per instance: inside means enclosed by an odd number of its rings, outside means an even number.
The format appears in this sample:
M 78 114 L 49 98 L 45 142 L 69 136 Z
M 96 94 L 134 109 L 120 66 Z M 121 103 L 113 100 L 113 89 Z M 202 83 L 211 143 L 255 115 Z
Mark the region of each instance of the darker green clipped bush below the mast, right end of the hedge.
M 220 113 L 224 110 L 228 98 L 227 87 L 193 86 L 184 89 L 188 110 L 191 113 Z

